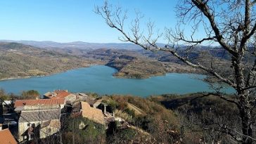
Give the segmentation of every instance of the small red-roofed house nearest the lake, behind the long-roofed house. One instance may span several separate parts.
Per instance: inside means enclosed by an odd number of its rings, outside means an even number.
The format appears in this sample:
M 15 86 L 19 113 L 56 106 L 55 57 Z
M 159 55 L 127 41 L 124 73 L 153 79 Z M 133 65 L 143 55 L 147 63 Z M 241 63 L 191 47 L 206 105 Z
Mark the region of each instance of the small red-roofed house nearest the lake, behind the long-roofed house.
M 72 93 L 69 93 L 68 90 L 58 90 L 53 92 L 47 92 L 44 93 L 44 98 L 51 98 L 51 99 L 60 99 L 65 98 L 65 102 L 72 104 L 77 99 L 77 96 L 75 96 Z

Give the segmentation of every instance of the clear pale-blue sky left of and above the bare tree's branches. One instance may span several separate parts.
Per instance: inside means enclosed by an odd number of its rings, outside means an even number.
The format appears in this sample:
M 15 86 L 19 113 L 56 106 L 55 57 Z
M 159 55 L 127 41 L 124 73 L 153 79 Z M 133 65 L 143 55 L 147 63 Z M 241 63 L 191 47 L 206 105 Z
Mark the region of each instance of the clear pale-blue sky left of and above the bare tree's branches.
M 94 13 L 103 0 L 1 0 L 0 39 L 35 41 L 120 42 L 120 33 L 105 25 Z M 157 29 L 174 27 L 177 0 L 109 0 L 127 9 L 131 17 L 139 10 Z M 146 24 L 146 21 L 143 24 Z

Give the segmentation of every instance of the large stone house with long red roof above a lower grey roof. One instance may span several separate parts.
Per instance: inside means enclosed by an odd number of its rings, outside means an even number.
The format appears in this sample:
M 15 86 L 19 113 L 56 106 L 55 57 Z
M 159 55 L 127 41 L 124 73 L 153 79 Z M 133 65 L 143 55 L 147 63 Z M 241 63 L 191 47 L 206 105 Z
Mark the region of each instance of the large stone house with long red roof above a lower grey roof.
M 60 130 L 61 109 L 65 99 L 17 100 L 19 142 L 33 138 L 46 138 Z

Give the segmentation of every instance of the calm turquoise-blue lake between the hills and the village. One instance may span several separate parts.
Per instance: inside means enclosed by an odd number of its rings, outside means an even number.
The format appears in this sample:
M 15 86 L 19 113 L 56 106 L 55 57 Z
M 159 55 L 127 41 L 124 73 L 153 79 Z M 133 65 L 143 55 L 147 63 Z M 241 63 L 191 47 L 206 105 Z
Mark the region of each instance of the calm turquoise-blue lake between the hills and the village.
M 205 77 L 200 74 L 169 73 L 165 76 L 148 79 L 120 79 L 113 77 L 115 72 L 117 70 L 112 67 L 94 65 L 46 77 L 0 81 L 0 88 L 8 93 L 15 94 L 31 89 L 37 90 L 41 94 L 57 89 L 68 89 L 68 91 L 74 93 L 95 92 L 109 95 L 131 94 L 134 96 L 213 91 L 207 83 L 200 80 Z M 223 92 L 233 93 L 234 91 L 229 88 L 224 89 Z

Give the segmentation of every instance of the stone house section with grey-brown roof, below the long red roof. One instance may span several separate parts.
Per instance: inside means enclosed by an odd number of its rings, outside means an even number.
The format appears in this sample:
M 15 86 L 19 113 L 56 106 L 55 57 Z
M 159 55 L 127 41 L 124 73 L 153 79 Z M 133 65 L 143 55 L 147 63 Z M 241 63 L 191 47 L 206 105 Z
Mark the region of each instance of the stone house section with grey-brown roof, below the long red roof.
M 24 110 L 18 121 L 18 140 L 46 138 L 60 130 L 60 109 Z

